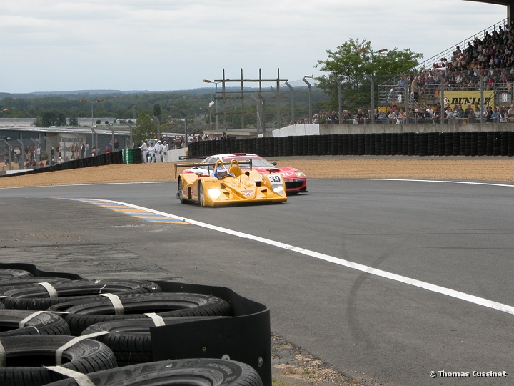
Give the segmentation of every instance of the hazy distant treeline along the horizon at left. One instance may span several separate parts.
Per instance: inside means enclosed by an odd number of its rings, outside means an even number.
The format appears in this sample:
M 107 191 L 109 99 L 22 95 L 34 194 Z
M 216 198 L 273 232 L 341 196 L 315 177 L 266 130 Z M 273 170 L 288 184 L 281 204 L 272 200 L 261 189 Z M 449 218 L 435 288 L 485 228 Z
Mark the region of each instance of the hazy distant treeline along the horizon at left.
M 218 87 L 220 91 L 221 87 Z M 233 127 L 241 126 L 241 94 L 230 89 L 226 99 L 226 121 Z M 256 90 L 257 91 L 257 90 Z M 244 114 L 246 124 L 256 123 L 256 102 L 251 94 L 256 91 L 245 91 Z M 78 91 L 77 91 L 78 92 Z M 261 93 L 266 101 L 266 122 L 276 121 L 276 94 L 269 89 Z M 291 91 L 281 89 L 281 122 L 291 119 Z M 323 91 L 312 89 L 313 111 L 319 109 L 333 109 L 329 107 L 328 96 Z M 308 90 L 303 87 L 295 89 L 293 94 L 295 117 L 308 117 Z M 215 101 L 209 107 L 211 101 Z M 41 126 L 64 126 L 73 124 L 78 118 L 91 117 L 91 108 L 94 117 L 116 117 L 135 119 L 141 112 L 154 116 L 159 111 L 161 124 L 171 122 L 173 119 L 183 118 L 181 110 L 188 119 L 194 118 L 209 122 L 216 119 L 216 104 L 218 120 L 222 120 L 223 101 L 221 93 L 216 94 L 216 88 L 203 88 L 183 91 L 136 93 L 116 91 L 84 91 L 81 93 L 34 93 L 34 94 L 0 94 L 0 117 L 3 118 L 35 118 Z M 156 110 L 156 106 L 159 108 Z M 66 123 L 67 122 L 67 123 Z

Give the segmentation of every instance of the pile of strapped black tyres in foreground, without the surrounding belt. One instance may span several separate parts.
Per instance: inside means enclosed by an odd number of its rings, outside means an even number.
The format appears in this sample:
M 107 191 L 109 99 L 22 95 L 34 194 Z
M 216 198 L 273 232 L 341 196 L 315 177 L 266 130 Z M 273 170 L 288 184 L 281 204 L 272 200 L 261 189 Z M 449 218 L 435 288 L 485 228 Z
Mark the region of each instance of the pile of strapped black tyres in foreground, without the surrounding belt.
M 153 361 L 153 327 L 231 317 L 221 297 L 22 269 L 0 269 L 0 294 L 0 385 L 263 385 L 228 358 Z

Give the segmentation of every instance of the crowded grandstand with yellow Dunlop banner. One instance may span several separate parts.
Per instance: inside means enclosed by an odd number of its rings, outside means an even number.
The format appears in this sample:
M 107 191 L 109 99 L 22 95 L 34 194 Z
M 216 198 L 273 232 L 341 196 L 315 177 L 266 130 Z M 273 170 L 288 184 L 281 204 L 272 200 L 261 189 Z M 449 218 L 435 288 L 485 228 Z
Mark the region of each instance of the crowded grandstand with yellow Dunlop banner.
M 458 118 L 465 123 L 463 105 L 479 105 L 480 112 L 489 106 L 510 107 L 514 93 L 514 21 L 510 19 L 514 0 L 480 2 L 505 5 L 508 17 L 380 84 L 378 102 L 385 114 L 391 108 L 402 108 L 408 122 L 433 122 L 425 116 L 427 110 L 436 105 L 453 110 L 458 105 Z M 483 122 L 481 118 L 480 114 L 478 122 Z

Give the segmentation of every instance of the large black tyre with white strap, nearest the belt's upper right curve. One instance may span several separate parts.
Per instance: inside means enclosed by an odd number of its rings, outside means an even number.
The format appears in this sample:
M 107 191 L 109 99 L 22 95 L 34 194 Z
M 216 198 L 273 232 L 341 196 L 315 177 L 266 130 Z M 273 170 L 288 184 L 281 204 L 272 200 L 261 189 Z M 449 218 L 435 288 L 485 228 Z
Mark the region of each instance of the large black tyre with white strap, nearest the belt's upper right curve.
M 220 297 L 166 292 L 120 295 L 124 315 L 116 315 L 106 298 L 76 302 L 71 307 L 54 305 L 51 311 L 69 312 L 63 315 L 72 335 L 81 335 L 87 327 L 99 322 L 124 319 L 147 319 L 144 314 L 155 312 L 161 317 L 231 316 L 231 305 Z

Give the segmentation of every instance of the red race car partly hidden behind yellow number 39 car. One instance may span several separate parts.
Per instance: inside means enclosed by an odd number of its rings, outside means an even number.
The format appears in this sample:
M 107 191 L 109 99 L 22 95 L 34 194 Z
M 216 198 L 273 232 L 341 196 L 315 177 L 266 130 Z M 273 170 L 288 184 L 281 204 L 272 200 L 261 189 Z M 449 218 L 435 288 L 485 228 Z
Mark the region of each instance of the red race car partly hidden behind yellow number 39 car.
M 190 158 L 190 157 L 188 157 Z M 192 158 L 192 157 L 191 157 Z M 196 158 L 196 157 L 195 157 Z M 230 163 L 232 159 L 239 161 L 251 161 L 251 168 L 257 170 L 261 174 L 280 173 L 286 182 L 286 191 L 288 194 L 304 193 L 307 192 L 307 177 L 303 172 L 300 172 L 294 167 L 278 167 L 276 162 L 268 162 L 263 157 L 256 154 L 248 153 L 231 153 L 231 154 L 216 154 L 211 157 L 202 159 L 201 163 L 213 164 L 221 160 L 223 163 Z M 202 167 L 191 167 L 183 170 L 182 173 L 195 173 L 209 176 L 213 170 L 204 169 Z

